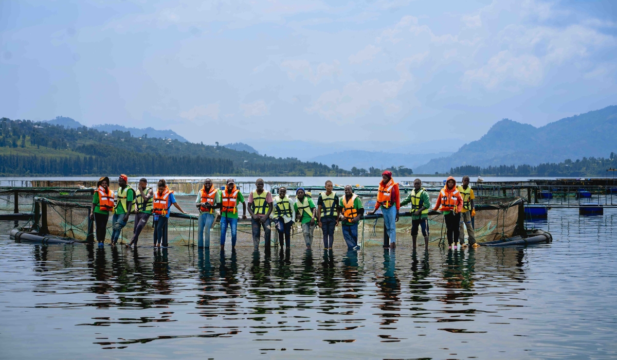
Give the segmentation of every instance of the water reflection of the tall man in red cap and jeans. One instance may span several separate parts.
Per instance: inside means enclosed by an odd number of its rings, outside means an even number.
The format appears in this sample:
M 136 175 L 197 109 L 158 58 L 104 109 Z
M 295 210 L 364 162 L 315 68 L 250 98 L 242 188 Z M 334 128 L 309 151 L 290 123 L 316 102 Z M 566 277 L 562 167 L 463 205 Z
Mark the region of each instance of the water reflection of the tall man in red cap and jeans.
M 396 277 L 396 250 L 384 249 L 384 277 L 383 280 L 377 283 L 379 289 L 381 289 L 381 299 L 383 304 L 379 305 L 379 309 L 386 312 L 381 314 L 381 317 L 385 319 L 381 322 L 381 325 L 389 325 L 396 322 L 394 317 L 399 317 L 395 311 L 400 311 L 400 281 Z

